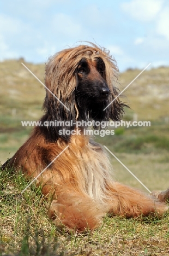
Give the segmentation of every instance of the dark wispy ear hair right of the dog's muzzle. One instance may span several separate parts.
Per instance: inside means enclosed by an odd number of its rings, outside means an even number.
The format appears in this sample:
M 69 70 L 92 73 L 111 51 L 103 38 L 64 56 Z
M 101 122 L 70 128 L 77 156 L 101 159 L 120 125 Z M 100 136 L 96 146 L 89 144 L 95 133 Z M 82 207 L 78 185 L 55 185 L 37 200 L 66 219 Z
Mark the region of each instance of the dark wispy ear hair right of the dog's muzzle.
M 111 105 L 108 107 L 108 112 L 109 112 L 109 118 L 113 121 L 119 121 L 124 114 L 124 108 L 127 107 L 129 108 L 128 105 L 126 105 L 125 103 L 123 103 L 122 101 L 120 101 L 119 97 L 117 97 L 119 95 L 120 91 L 113 87 L 113 94 L 111 96 L 111 101 L 113 101 L 111 103 Z M 114 100 L 116 98 L 116 100 Z

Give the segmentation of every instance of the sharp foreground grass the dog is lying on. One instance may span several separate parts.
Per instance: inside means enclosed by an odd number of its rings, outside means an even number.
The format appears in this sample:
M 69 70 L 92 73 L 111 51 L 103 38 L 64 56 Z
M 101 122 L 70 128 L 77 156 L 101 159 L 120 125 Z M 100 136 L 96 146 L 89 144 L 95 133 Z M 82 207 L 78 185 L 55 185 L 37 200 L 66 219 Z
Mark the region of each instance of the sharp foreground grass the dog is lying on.
M 0 173 L 0 255 L 168 255 L 169 214 L 162 219 L 106 216 L 86 234 L 58 230 L 46 215 L 46 199 L 22 173 Z

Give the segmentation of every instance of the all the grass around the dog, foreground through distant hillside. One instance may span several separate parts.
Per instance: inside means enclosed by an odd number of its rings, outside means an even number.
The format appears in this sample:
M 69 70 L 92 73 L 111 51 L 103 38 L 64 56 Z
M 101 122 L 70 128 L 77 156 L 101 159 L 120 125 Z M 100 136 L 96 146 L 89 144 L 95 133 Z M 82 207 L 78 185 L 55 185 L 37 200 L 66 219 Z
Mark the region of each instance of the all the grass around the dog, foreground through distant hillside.
M 25 64 L 44 82 L 44 65 Z M 125 91 L 123 100 L 131 109 L 124 119 L 135 115 L 138 121 L 150 120 L 150 127 L 119 127 L 113 136 L 96 137 L 150 190 L 168 188 L 168 70 L 145 71 Z M 120 74 L 120 89 L 138 73 L 130 69 Z M 0 92 L 3 164 L 31 133 L 32 127 L 22 127 L 21 121 L 38 120 L 43 114 L 45 90 L 17 60 L 0 62 L 0 82 L 5 85 Z M 116 159 L 110 160 L 117 181 L 144 190 Z M 169 255 L 169 213 L 162 219 L 105 216 L 100 228 L 70 234 L 47 217 L 46 199 L 34 184 L 21 194 L 28 182 L 22 173 L 0 171 L 0 255 Z

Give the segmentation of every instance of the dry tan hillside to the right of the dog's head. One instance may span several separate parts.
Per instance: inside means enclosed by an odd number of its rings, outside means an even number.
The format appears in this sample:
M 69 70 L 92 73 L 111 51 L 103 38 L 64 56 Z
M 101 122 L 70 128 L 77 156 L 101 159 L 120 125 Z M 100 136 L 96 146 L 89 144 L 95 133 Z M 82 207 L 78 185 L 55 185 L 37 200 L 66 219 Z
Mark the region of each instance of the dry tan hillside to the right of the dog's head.
M 144 71 L 125 91 L 132 110 L 138 120 L 159 120 L 169 116 L 168 67 L 153 68 Z M 140 70 L 133 69 L 122 73 L 120 84 L 128 85 Z

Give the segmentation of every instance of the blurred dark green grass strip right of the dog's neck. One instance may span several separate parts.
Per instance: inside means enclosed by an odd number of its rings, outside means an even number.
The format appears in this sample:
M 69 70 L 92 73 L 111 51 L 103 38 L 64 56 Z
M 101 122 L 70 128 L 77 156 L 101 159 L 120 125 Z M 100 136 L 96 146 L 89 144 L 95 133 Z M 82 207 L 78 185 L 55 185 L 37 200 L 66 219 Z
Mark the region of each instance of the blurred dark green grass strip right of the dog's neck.
M 111 128 L 112 129 L 112 128 Z M 96 137 L 96 140 L 115 152 L 152 153 L 157 149 L 169 150 L 168 124 L 152 121 L 150 126 L 129 126 L 114 129 L 114 136 Z M 157 150 L 156 150 L 157 151 Z

